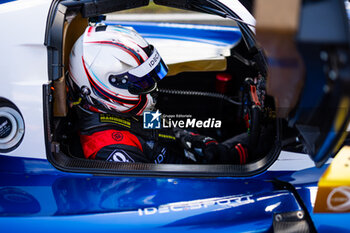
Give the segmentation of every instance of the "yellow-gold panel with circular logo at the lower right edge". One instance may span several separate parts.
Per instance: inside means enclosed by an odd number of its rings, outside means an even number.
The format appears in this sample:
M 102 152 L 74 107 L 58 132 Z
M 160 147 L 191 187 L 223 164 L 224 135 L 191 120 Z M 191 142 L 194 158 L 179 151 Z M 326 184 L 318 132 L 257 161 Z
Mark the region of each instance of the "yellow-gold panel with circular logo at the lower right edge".
M 314 212 L 350 212 L 350 146 L 339 151 L 318 182 Z

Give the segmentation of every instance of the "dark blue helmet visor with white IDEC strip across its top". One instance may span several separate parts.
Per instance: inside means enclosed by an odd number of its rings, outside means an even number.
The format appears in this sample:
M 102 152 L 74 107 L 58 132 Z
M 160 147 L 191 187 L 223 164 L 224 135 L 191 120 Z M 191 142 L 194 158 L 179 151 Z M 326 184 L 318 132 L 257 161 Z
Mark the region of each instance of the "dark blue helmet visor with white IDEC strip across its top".
M 151 56 L 138 67 L 128 72 L 114 76 L 119 82 L 111 82 L 115 87 L 127 88 L 131 94 L 146 94 L 157 87 L 157 82 L 168 73 L 168 67 L 160 57 L 158 51 L 150 45 Z M 126 79 L 123 81 L 122 79 Z

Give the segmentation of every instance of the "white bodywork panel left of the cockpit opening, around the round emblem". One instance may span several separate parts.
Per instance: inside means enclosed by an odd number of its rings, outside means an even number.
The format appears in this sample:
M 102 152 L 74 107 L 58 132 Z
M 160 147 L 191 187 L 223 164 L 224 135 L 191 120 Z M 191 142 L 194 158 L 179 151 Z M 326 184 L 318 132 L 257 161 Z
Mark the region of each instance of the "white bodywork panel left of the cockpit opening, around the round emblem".
M 0 97 L 19 108 L 25 123 L 22 143 L 5 155 L 46 159 L 42 86 L 48 82 L 44 38 L 50 4 L 19 0 L 0 5 Z

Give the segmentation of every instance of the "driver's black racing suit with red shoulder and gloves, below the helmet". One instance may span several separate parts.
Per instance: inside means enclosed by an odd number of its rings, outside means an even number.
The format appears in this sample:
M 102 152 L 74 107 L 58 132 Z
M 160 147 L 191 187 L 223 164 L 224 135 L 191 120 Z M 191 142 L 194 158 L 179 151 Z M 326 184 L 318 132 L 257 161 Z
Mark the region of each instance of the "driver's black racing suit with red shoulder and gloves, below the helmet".
M 77 112 L 80 141 L 87 159 L 156 164 L 247 162 L 247 150 L 236 141 L 233 146 L 226 145 L 182 129 L 177 129 L 176 136 L 172 129 L 143 129 L 142 118 Z M 201 147 L 203 153 L 194 156 L 191 148 L 183 146 L 186 140 Z

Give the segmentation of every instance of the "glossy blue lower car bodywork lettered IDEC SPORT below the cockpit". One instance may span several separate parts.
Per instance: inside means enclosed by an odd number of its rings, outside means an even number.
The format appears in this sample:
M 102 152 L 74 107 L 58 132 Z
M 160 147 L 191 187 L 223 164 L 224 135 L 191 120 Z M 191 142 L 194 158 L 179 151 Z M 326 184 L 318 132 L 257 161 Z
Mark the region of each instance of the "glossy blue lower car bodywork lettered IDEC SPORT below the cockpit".
M 323 168 L 250 178 L 108 177 L 48 161 L 0 158 L 4 232 L 266 232 L 300 212 L 318 232 L 347 232 L 350 214 L 314 214 Z M 286 185 L 290 184 L 290 185 Z

